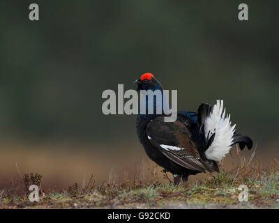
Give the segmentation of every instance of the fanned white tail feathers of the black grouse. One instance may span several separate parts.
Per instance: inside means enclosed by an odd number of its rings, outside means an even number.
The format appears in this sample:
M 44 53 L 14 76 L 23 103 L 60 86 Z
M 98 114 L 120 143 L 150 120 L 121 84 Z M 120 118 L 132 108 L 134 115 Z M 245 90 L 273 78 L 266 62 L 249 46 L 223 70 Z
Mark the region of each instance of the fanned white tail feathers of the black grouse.
M 209 160 L 220 161 L 229 153 L 232 148 L 232 140 L 236 125 L 231 126 L 230 115 L 225 117 L 226 109 L 223 112 L 223 100 L 217 100 L 213 110 L 204 121 L 204 133 L 209 137 L 215 133 L 214 140 L 205 151 L 206 158 Z

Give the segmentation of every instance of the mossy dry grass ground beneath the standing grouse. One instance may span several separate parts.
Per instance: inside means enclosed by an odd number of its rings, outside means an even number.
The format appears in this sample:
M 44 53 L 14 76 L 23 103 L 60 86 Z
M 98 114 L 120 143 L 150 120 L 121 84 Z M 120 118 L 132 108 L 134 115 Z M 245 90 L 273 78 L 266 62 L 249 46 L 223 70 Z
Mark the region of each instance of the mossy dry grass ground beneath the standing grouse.
M 153 165 L 138 177 L 117 180 L 113 169 L 107 182 L 96 185 L 91 176 L 82 186 L 74 183 L 68 190 L 43 190 L 42 176 L 25 174 L 25 192 L 0 191 L 1 208 L 279 208 L 279 162 L 274 160 L 264 169 L 250 157 L 229 156 L 227 167 L 220 162 L 220 173 L 207 174 L 184 185 L 174 186 L 172 176 Z M 235 162 L 238 160 L 239 162 Z M 142 162 L 144 171 L 146 164 Z M 149 173 L 151 178 L 147 179 Z M 162 176 L 163 174 L 163 176 Z M 127 174 L 126 174 L 127 175 Z M 165 181 L 162 181 L 165 178 Z M 120 182 L 118 182 L 120 181 Z M 40 201 L 30 202 L 28 186 L 40 185 Z M 239 185 L 247 185 L 248 202 L 240 202 Z

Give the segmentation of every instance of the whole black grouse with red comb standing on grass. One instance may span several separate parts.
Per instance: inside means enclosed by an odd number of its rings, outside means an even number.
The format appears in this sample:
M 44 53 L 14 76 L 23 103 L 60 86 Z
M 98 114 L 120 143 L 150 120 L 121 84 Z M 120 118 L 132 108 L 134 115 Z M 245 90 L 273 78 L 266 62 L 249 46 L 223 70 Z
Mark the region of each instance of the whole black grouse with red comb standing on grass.
M 163 86 L 151 73 L 142 75 L 135 84 L 138 91 L 159 90 L 163 95 Z M 173 122 L 165 122 L 164 112 L 156 112 L 155 94 L 153 104 L 147 100 L 147 95 L 141 98 L 140 106 L 144 102 L 146 114 L 137 115 L 137 135 L 149 158 L 173 174 L 174 184 L 186 182 L 191 174 L 219 171 L 216 161 L 222 160 L 234 144 L 241 150 L 252 148 L 252 140 L 236 134 L 230 116 L 225 116 L 223 100 L 217 100 L 213 107 L 202 104 L 197 113 L 177 112 Z M 148 113 L 150 106 L 153 114 Z

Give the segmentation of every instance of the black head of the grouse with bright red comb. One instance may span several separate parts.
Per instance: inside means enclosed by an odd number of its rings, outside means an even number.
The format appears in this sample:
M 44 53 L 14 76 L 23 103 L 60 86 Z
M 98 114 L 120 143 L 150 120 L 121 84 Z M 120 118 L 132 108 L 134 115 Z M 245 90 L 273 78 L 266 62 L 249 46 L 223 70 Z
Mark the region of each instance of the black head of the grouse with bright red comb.
M 137 84 L 137 91 L 140 90 L 163 90 L 162 84 L 150 72 L 143 74 L 140 79 L 136 79 L 134 84 Z

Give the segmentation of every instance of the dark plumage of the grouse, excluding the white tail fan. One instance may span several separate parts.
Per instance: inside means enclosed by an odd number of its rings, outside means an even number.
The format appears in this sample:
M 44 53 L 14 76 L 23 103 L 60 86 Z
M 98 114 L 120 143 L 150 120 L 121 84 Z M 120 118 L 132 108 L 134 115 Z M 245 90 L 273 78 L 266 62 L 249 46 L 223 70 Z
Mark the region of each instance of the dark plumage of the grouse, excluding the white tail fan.
M 142 75 L 135 83 L 139 91 L 163 91 L 163 86 L 151 74 Z M 216 161 L 209 160 L 205 155 L 216 136 L 214 132 L 211 135 L 204 132 L 205 119 L 212 109 L 211 105 L 202 104 L 197 113 L 178 112 L 174 122 L 165 122 L 164 114 L 137 115 L 137 135 L 146 154 L 160 167 L 174 174 L 174 183 L 179 183 L 181 178 L 186 181 L 190 174 L 218 171 Z M 245 146 L 252 148 L 252 140 L 241 134 L 234 134 L 232 144 L 236 143 L 241 149 Z

